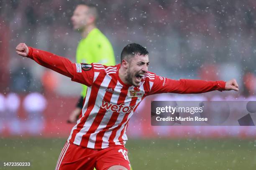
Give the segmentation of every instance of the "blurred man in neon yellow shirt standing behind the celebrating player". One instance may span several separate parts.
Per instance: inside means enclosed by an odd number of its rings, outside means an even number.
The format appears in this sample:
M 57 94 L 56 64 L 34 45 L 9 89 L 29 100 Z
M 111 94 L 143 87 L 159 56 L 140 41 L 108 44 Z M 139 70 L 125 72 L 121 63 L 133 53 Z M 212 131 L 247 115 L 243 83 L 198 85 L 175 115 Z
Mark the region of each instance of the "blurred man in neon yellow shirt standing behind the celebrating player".
M 71 18 L 73 29 L 82 35 L 82 40 L 77 46 L 76 62 L 115 65 L 113 47 L 108 38 L 96 27 L 97 19 L 97 8 L 94 5 L 80 4 L 74 10 Z M 79 97 L 76 108 L 70 114 L 68 122 L 77 122 L 86 91 L 87 86 L 82 85 L 81 97 Z

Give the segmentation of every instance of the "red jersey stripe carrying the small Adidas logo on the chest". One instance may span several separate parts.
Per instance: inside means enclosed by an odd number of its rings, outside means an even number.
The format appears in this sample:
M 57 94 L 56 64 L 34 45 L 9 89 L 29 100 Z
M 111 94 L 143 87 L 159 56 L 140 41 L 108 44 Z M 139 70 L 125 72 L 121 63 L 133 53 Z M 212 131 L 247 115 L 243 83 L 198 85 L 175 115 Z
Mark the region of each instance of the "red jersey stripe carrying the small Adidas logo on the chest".
M 108 88 L 114 89 L 115 86 L 116 86 L 116 84 L 117 84 L 117 80 L 111 79 L 111 80 L 110 80 L 110 83 L 109 83 L 109 85 L 108 85 Z M 105 95 L 104 95 L 104 97 L 103 97 L 103 100 L 104 100 L 105 102 L 110 102 L 112 95 L 113 95 L 113 93 L 106 92 Z M 105 110 L 105 109 L 103 109 L 102 107 L 100 107 L 100 110 L 99 110 L 99 112 L 97 113 L 97 115 L 96 115 L 94 121 L 92 122 L 92 125 L 91 125 L 90 129 L 87 131 L 86 134 L 84 134 L 84 135 L 82 136 L 82 139 L 83 139 L 83 138 L 84 138 L 84 139 L 89 139 L 89 138 L 90 138 L 90 135 L 91 135 L 92 133 L 95 133 L 95 131 L 96 131 L 97 128 L 99 127 L 100 122 L 102 121 L 102 119 L 103 119 L 103 117 L 104 117 L 106 111 L 107 111 L 107 110 Z M 96 141 L 97 141 L 97 136 L 96 136 Z M 82 146 L 87 146 L 88 142 L 89 142 L 89 140 L 82 140 L 81 145 L 82 145 Z M 95 146 L 95 149 L 96 149 L 96 148 L 97 148 L 97 147 Z

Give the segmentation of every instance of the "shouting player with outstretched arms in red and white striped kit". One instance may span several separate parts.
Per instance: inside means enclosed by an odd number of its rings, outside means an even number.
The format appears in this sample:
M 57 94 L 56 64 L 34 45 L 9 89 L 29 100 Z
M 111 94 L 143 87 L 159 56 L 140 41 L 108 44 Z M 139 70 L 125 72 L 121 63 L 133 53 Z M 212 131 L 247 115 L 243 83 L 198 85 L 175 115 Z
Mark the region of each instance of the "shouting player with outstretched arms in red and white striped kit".
M 157 93 L 202 93 L 236 90 L 236 80 L 172 80 L 148 72 L 148 51 L 132 43 L 123 48 L 121 63 L 72 63 L 50 52 L 20 43 L 18 55 L 87 85 L 82 117 L 72 128 L 56 170 L 130 170 L 125 134 L 128 121 L 141 100 Z

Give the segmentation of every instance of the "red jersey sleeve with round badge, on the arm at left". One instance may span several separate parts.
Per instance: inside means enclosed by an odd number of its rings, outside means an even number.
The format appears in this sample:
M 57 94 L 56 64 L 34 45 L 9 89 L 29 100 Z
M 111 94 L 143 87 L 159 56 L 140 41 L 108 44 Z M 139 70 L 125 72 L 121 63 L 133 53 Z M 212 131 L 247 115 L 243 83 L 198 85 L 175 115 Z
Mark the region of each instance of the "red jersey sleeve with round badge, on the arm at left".
M 91 86 L 93 83 L 94 72 L 92 65 L 90 69 L 85 69 L 80 63 L 72 63 L 65 57 L 61 57 L 44 50 L 38 50 L 28 47 L 28 57 L 35 60 L 39 65 L 59 72 L 62 75 L 70 77 L 72 81 Z

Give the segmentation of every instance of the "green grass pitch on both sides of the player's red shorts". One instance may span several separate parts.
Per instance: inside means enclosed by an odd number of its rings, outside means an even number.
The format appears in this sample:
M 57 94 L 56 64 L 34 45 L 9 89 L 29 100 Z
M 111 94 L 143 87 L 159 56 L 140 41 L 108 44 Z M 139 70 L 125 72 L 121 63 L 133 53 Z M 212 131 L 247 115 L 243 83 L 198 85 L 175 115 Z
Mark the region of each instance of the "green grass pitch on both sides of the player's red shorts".
M 66 139 L 0 138 L 0 170 L 54 169 Z M 128 140 L 133 170 L 255 170 L 256 140 Z M 30 162 L 30 167 L 4 167 Z

